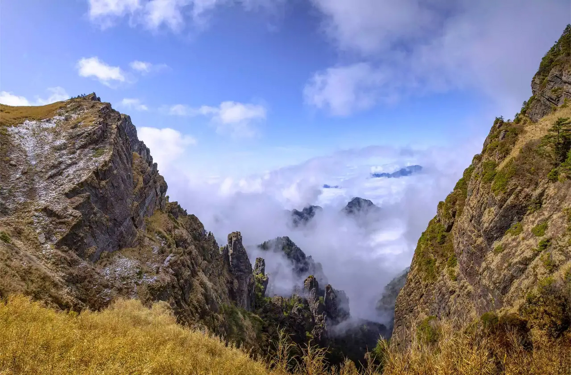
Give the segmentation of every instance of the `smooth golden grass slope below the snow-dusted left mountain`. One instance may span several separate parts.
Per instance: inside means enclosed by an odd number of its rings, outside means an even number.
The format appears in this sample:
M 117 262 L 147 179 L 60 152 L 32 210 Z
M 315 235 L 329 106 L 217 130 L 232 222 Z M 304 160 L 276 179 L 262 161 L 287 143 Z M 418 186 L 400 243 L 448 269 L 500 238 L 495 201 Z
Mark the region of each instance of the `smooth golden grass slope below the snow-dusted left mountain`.
M 14 296 L 0 305 L 0 326 L 3 374 L 268 374 L 241 350 L 177 325 L 164 304 L 122 300 L 77 315 Z

